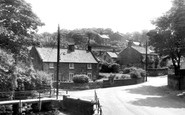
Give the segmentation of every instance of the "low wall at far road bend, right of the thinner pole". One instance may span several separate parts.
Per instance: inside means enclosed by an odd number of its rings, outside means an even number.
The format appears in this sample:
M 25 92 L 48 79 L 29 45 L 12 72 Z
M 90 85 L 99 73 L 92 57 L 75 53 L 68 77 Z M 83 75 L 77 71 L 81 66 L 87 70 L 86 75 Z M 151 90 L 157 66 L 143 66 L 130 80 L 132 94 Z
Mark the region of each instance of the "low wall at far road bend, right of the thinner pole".
M 167 75 L 168 74 L 168 68 L 148 68 L 148 75 L 149 76 L 160 76 L 160 75 Z

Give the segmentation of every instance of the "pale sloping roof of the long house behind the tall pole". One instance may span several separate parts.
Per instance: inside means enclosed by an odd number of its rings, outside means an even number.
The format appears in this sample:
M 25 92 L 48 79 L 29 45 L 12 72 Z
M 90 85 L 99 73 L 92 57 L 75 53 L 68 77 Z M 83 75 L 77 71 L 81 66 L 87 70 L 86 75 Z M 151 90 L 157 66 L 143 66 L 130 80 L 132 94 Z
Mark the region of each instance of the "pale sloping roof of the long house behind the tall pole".
M 57 62 L 56 48 L 36 47 L 43 62 Z M 68 49 L 60 49 L 60 62 L 66 63 L 98 63 L 91 52 L 86 50 L 77 50 L 68 52 Z

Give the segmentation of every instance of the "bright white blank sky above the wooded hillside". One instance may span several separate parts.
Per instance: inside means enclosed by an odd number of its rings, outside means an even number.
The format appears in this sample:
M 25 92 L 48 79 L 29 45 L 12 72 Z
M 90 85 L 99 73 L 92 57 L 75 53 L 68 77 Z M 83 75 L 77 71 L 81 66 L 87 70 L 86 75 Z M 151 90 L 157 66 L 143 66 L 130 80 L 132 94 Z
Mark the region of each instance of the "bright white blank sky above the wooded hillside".
M 154 29 L 151 21 L 162 16 L 171 0 L 25 0 L 45 23 L 38 33 L 61 29 L 111 28 L 114 32 Z

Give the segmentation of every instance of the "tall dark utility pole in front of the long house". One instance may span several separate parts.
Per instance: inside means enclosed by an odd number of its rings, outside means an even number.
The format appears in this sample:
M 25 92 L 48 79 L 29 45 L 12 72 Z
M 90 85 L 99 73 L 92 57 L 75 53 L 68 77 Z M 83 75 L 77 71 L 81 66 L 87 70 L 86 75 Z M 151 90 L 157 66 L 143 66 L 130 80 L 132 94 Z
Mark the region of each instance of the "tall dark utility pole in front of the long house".
M 60 26 L 58 25 L 58 36 L 57 36 L 57 93 L 56 98 L 58 99 L 58 92 L 59 92 L 59 62 L 60 62 Z

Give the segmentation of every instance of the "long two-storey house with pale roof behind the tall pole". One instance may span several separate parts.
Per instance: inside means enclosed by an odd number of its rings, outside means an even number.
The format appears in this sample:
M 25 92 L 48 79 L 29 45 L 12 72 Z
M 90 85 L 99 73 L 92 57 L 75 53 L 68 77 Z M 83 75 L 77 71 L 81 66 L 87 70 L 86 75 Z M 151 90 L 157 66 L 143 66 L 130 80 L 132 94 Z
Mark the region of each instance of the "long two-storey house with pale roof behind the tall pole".
M 34 68 L 52 73 L 56 80 L 57 49 L 32 47 L 30 54 Z M 59 80 L 72 81 L 75 74 L 87 74 L 95 79 L 98 62 L 91 51 L 77 50 L 74 45 L 69 45 L 67 49 L 60 49 Z

